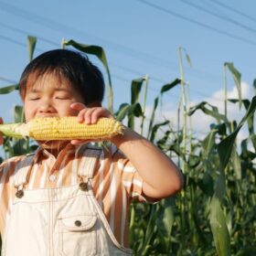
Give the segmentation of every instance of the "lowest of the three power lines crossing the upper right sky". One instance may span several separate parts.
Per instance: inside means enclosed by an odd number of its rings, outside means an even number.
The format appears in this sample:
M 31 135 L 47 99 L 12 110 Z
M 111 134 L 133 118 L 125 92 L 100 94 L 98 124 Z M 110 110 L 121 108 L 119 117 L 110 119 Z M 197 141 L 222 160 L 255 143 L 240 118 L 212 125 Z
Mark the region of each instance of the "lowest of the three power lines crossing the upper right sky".
M 239 37 L 239 36 L 231 34 L 229 32 L 220 30 L 219 28 L 216 28 L 216 27 L 211 27 L 211 26 L 209 26 L 207 24 L 204 24 L 204 23 L 201 23 L 201 22 L 199 22 L 199 21 L 197 21 L 195 19 L 189 18 L 187 16 L 182 16 L 182 15 L 177 14 L 177 13 L 171 11 L 171 10 L 168 10 L 168 9 L 162 7 L 162 6 L 149 3 L 149 2 L 147 2 L 145 0 L 136 0 L 136 1 L 138 1 L 138 2 L 140 2 L 142 4 L 144 4 L 144 5 L 151 6 L 151 7 L 155 8 L 155 9 L 157 9 L 158 11 L 162 11 L 162 12 L 168 14 L 168 15 L 176 16 L 176 17 L 178 17 L 180 19 L 183 19 L 183 20 L 186 20 L 186 21 L 188 21 L 190 23 L 196 24 L 199 27 L 205 27 L 205 28 L 208 28 L 209 30 L 215 31 L 215 32 L 217 32 L 217 33 L 219 33 L 221 35 L 226 36 L 226 37 L 231 37 L 231 38 L 239 40 L 241 42 L 248 43 L 248 44 L 251 44 L 253 46 L 256 46 L 256 41 L 253 41 L 253 40 L 250 40 L 250 39 L 246 39 L 246 38 L 243 38 L 243 37 Z

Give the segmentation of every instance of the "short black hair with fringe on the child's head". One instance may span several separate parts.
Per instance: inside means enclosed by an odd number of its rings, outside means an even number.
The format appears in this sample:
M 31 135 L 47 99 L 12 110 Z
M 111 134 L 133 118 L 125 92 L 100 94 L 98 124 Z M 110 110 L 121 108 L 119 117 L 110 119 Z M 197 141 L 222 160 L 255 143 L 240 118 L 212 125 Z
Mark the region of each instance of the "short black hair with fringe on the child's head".
M 24 100 L 27 89 L 46 73 L 56 73 L 70 82 L 80 92 L 85 104 L 101 103 L 104 80 L 101 70 L 85 54 L 69 49 L 54 49 L 33 59 L 24 69 L 19 80 L 19 91 Z

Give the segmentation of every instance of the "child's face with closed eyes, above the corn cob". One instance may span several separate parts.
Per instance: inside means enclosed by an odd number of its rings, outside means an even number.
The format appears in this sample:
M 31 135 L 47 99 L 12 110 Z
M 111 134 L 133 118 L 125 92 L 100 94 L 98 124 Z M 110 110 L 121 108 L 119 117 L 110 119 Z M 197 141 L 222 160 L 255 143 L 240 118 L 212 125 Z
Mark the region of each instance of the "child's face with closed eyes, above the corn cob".
M 24 99 L 26 121 L 35 117 L 75 116 L 76 110 L 70 108 L 73 102 L 82 102 L 68 80 L 54 73 L 46 73 L 29 87 Z

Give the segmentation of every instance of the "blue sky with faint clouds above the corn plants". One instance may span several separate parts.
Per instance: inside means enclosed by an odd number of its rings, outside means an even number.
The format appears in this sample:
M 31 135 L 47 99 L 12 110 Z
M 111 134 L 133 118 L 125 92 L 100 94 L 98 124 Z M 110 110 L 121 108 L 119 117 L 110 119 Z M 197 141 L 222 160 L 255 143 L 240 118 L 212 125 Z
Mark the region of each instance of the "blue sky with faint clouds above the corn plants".
M 150 78 L 150 109 L 160 88 L 179 77 L 179 46 L 186 48 L 192 61 L 190 68 L 184 59 L 192 103 L 207 100 L 223 105 L 226 61 L 240 70 L 244 95 L 252 97 L 255 7 L 256 2 L 249 0 L 0 0 L 0 87 L 19 80 L 28 63 L 27 35 L 31 35 L 37 37 L 35 56 L 59 48 L 62 38 L 104 48 L 115 109 L 130 101 L 131 80 L 145 74 Z M 104 71 L 96 59 L 91 60 Z M 235 95 L 230 76 L 228 89 Z M 165 95 L 166 115 L 175 118 L 179 95 L 180 88 Z M 20 103 L 17 93 L 0 95 L 0 102 L 0 116 L 11 122 L 12 109 Z M 235 116 L 237 110 L 230 106 L 231 110 Z M 197 129 L 205 129 L 202 123 L 197 123 Z

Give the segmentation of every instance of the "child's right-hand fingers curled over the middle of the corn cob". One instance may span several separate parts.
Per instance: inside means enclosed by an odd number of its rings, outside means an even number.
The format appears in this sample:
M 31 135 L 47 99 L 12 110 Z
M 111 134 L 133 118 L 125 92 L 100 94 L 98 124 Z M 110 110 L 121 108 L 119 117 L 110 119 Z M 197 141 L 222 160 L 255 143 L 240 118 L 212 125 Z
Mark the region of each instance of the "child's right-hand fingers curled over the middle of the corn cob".
M 109 117 L 112 118 L 111 112 L 109 112 L 107 109 L 102 107 L 93 107 L 93 108 L 87 108 L 84 104 L 80 102 L 75 102 L 70 105 L 70 107 L 74 110 L 77 110 L 78 113 L 78 122 L 79 123 L 97 123 L 99 118 L 101 117 Z M 94 140 L 94 142 L 100 141 L 100 140 Z M 84 140 L 72 140 L 71 144 L 84 144 L 89 141 Z

